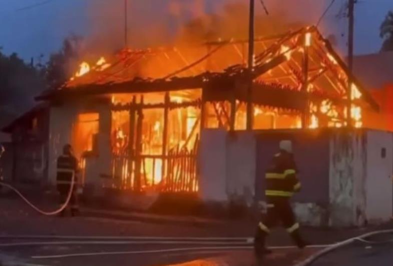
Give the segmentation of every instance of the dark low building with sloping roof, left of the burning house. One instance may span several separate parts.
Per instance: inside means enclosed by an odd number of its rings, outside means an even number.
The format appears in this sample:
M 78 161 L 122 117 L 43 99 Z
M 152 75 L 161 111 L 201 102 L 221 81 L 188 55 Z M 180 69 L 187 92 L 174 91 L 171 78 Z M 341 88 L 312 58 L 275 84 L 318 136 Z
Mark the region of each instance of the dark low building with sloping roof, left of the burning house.
M 48 181 L 49 106 L 40 103 L 26 112 L 3 132 L 12 142 L 6 146 L 8 168 L 5 177 L 13 182 Z M 12 158 L 12 159 L 11 159 Z

